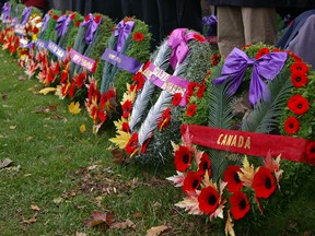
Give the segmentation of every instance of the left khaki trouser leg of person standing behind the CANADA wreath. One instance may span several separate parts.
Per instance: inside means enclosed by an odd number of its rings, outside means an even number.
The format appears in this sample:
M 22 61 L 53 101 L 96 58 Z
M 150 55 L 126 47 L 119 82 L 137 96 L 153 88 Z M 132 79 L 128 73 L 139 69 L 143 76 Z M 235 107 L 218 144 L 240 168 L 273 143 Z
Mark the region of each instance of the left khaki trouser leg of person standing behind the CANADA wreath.
M 241 8 L 218 7 L 218 46 L 220 54 L 228 56 L 234 47 L 245 44 Z

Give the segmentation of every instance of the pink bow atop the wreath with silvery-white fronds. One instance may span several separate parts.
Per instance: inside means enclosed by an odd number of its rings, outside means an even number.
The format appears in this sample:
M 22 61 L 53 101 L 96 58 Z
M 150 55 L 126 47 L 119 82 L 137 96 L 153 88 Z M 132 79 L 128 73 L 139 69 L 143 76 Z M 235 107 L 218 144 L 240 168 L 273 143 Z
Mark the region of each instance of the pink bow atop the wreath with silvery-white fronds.
M 189 51 L 187 43 L 194 38 L 195 33 L 185 34 L 186 31 L 186 28 L 174 30 L 167 40 L 167 46 L 172 47 L 170 61 L 173 70 L 175 70 L 177 63 L 184 61 Z

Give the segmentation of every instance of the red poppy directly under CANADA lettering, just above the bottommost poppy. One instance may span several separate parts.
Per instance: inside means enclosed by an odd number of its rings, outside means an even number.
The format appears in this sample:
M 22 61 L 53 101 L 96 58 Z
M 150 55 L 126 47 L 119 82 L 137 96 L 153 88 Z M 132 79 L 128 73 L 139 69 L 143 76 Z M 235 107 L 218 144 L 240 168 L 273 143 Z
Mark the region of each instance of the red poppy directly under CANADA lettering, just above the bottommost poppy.
M 243 182 L 241 181 L 238 177 L 238 172 L 242 173 L 240 166 L 228 166 L 228 168 L 224 172 L 224 181 L 228 182 L 228 190 L 230 192 L 236 192 L 243 187 Z

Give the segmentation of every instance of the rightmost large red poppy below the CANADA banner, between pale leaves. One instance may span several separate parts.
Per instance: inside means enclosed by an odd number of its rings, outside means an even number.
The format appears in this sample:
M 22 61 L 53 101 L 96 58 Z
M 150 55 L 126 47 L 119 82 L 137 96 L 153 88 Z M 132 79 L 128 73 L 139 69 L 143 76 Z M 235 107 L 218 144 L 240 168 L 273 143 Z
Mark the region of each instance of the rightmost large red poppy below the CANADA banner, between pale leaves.
M 260 167 L 254 176 L 252 187 L 257 198 L 267 199 L 276 190 L 275 179 L 267 167 Z

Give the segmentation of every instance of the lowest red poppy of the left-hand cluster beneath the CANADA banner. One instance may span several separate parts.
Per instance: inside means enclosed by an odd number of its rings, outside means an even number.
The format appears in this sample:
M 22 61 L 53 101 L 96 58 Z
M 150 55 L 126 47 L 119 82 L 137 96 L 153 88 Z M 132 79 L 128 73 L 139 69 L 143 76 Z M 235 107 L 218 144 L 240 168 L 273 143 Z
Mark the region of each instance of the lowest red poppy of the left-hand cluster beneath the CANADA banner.
M 212 186 L 202 188 L 198 196 L 199 209 L 206 214 L 213 213 L 219 205 L 219 192 Z

